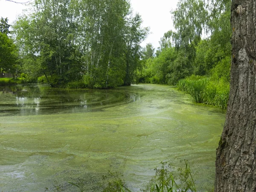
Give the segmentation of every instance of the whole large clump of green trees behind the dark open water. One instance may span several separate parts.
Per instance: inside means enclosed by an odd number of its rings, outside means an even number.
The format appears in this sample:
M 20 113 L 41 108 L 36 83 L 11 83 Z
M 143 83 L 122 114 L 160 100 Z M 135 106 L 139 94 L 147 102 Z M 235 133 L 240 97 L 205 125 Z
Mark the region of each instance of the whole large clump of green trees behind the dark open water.
M 148 29 L 128 0 L 35 0 L 16 22 L 23 70 L 52 87 L 85 79 L 86 87 L 131 84 Z M 48 78 L 49 77 L 49 78 Z

